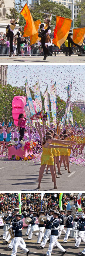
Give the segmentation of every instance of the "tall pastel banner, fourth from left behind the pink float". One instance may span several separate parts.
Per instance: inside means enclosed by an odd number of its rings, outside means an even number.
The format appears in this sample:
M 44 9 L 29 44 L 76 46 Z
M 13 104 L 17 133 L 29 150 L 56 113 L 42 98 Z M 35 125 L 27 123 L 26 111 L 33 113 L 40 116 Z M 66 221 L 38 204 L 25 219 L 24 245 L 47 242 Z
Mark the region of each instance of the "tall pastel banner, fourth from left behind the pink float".
M 50 90 L 50 101 L 51 101 L 51 112 L 52 112 L 52 123 L 56 126 L 57 119 L 57 92 L 56 82 L 51 86 Z

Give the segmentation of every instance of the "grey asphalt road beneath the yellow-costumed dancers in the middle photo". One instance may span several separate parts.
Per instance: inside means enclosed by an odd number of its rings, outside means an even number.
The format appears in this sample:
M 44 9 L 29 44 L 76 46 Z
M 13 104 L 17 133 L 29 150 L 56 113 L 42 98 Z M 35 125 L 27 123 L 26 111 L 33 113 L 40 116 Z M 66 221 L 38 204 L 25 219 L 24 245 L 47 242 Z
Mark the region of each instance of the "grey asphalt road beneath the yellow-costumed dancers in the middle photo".
M 41 188 L 37 189 L 40 161 L 35 163 L 32 161 L 11 161 L 0 158 L 0 191 L 55 191 L 50 170 L 48 175 L 44 172 Z M 64 170 L 62 164 L 62 175 L 56 178 L 56 191 L 85 191 L 85 166 L 76 165 L 74 161 L 69 165 L 71 174 Z

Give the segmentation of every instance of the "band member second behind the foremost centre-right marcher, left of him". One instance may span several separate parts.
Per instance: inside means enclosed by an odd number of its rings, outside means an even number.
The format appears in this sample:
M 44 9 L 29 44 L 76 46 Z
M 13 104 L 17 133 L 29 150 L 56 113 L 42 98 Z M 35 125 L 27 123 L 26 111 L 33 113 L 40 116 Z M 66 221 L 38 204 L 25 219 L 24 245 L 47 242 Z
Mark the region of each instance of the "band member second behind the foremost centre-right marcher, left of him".
M 45 215 L 45 211 L 40 211 L 40 216 Z M 45 224 L 44 224 L 44 219 L 42 217 L 41 221 L 43 221 L 43 224 L 39 224 L 39 234 L 38 234 L 38 240 L 37 240 L 37 244 L 41 243 L 41 239 L 43 237 L 43 233 L 44 233 L 44 229 L 45 229 Z

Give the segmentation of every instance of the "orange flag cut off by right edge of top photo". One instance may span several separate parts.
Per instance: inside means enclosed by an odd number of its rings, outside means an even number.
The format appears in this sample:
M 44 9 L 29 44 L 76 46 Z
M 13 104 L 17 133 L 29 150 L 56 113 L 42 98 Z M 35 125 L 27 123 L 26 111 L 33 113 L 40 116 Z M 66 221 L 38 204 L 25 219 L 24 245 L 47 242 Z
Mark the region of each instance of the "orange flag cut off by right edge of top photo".
M 85 27 L 81 29 L 73 29 L 73 41 L 78 45 L 82 45 L 85 36 Z

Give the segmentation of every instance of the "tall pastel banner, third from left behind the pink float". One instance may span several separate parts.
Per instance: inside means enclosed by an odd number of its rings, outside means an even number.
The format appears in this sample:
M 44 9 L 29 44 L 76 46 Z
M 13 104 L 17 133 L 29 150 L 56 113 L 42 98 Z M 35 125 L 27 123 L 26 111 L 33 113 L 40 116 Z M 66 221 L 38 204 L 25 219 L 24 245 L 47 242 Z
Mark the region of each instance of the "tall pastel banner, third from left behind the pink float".
M 47 112 L 47 125 L 50 127 L 50 108 L 49 108 L 49 96 L 48 96 L 48 86 L 44 93 L 44 106 L 45 106 L 45 113 Z

